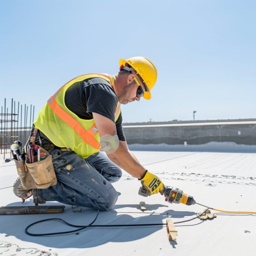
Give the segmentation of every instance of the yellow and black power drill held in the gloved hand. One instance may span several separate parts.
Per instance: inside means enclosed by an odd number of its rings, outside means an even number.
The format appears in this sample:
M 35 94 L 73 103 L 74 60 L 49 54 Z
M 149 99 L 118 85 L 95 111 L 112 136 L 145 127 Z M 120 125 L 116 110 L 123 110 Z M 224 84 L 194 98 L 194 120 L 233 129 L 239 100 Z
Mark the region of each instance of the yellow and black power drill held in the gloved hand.
M 192 205 L 196 203 L 196 201 L 192 196 L 189 196 L 183 193 L 183 191 L 179 188 L 166 186 L 164 187 L 163 193 L 164 193 L 165 201 L 169 203 L 184 203 L 186 205 Z M 147 196 L 150 196 L 150 193 L 145 186 L 142 186 L 139 189 L 139 195 L 147 197 Z

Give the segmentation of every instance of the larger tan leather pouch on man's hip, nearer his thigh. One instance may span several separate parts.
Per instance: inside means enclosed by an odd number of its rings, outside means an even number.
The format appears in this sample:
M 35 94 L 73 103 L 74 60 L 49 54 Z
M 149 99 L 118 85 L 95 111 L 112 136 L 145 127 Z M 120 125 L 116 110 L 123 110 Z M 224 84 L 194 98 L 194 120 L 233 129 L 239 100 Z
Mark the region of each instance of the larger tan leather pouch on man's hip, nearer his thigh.
M 45 153 L 45 159 L 36 161 L 34 163 L 28 162 L 28 157 L 26 155 L 25 164 L 29 169 L 29 173 L 34 179 L 36 188 L 49 188 L 57 184 L 57 178 L 53 168 L 53 159 L 48 151 L 44 150 L 39 146 L 40 152 Z

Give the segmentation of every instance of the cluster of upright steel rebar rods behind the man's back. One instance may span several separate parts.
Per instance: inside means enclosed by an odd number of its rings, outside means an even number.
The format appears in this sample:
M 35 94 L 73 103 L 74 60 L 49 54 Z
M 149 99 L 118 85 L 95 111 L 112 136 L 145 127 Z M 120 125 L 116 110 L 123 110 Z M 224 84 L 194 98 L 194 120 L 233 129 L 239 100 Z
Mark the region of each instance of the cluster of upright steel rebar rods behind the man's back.
M 11 99 L 11 108 L 6 106 L 6 98 L 4 106 L 1 106 L 0 113 L 0 154 L 7 155 L 10 145 L 15 140 L 20 140 L 24 145 L 27 140 L 27 133 L 32 128 L 34 120 L 34 106 L 30 105 L 30 120 L 28 124 L 29 106 L 19 103 Z M 31 123 L 32 121 L 32 123 Z M 10 153 L 11 157 L 11 153 Z

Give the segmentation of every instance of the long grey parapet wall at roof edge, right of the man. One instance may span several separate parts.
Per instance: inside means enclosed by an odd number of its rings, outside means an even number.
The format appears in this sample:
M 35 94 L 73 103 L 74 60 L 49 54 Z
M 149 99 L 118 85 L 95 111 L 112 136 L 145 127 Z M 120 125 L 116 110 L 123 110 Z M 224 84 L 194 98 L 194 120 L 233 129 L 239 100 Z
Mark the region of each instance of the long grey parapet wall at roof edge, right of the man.
M 129 145 L 200 145 L 209 142 L 256 145 L 256 121 L 135 125 L 123 129 Z

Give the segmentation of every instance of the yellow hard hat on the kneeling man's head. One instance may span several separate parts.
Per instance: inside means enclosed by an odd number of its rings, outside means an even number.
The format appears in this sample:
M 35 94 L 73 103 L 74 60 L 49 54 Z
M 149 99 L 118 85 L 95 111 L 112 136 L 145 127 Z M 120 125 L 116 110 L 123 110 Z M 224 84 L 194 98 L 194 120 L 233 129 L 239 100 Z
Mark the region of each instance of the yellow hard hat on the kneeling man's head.
M 157 79 L 157 70 L 155 68 L 155 65 L 145 57 L 132 57 L 127 60 L 121 58 L 119 61 L 119 65 L 120 70 L 127 65 L 135 70 L 135 72 L 143 80 L 143 83 L 146 87 L 146 92 L 144 93 L 143 98 L 150 100 L 150 91 L 155 86 L 155 82 Z

